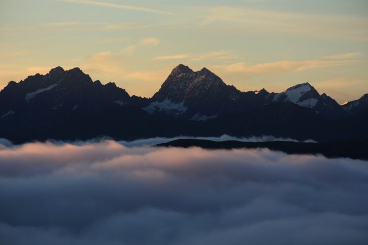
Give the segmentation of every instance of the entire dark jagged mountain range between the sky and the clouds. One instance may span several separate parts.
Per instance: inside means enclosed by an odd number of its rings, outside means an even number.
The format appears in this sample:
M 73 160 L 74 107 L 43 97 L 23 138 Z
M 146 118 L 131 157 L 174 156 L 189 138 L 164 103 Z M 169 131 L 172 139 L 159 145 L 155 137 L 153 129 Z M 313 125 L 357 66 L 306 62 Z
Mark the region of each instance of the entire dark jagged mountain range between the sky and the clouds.
M 281 93 L 243 92 L 207 68 L 183 64 L 151 98 L 59 66 L 0 91 L 0 137 L 15 143 L 225 133 L 333 141 L 367 138 L 367 123 L 368 94 L 340 105 L 309 83 Z

